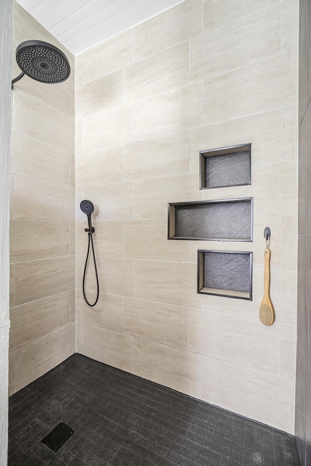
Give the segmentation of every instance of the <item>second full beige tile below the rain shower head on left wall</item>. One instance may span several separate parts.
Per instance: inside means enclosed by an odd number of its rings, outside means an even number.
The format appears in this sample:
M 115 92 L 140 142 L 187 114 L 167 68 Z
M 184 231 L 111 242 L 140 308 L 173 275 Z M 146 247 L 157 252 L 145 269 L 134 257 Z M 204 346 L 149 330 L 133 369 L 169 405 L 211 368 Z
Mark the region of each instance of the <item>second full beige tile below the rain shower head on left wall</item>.
M 69 186 L 69 152 L 12 131 L 11 173 Z

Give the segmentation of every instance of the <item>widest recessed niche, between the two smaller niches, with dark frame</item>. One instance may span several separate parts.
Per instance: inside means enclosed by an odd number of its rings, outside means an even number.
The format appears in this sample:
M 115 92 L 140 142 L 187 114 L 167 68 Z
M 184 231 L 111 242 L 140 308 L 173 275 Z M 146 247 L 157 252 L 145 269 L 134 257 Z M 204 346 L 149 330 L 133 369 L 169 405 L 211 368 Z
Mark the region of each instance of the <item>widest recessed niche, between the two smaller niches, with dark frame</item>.
M 168 239 L 253 241 L 253 197 L 170 202 Z

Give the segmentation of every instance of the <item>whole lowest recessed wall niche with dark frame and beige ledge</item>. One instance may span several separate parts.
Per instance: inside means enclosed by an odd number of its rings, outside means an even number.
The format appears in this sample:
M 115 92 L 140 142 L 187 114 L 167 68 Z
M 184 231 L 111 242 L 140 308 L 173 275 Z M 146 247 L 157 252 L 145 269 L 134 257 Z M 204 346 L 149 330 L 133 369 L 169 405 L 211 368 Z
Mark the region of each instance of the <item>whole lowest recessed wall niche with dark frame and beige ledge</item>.
M 252 252 L 198 250 L 198 293 L 252 300 Z

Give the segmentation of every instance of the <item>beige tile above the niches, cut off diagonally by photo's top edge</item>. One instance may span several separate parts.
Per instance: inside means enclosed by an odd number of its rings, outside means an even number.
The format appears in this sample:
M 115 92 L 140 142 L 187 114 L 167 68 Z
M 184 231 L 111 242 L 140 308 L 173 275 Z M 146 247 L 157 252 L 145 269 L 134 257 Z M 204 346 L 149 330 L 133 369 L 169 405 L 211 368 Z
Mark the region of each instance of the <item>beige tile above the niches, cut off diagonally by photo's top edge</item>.
M 247 17 L 278 0 L 203 0 L 203 30 L 211 30 Z M 269 11 L 269 10 L 268 10 Z

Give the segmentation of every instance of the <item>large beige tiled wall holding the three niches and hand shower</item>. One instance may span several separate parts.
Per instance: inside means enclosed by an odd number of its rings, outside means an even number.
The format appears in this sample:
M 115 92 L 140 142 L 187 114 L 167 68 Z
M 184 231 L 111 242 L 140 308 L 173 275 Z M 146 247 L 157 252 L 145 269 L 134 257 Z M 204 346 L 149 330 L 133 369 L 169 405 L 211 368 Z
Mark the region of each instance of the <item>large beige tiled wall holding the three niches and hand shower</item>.
M 297 15 L 297 0 L 185 0 L 76 57 L 77 204 L 90 198 L 96 206 L 101 287 L 92 309 L 78 289 L 78 350 L 288 432 Z M 200 191 L 199 151 L 241 143 L 252 143 L 252 185 Z M 253 243 L 167 240 L 168 202 L 247 196 Z M 79 210 L 77 220 L 81 288 Z M 267 225 L 276 312 L 269 328 L 258 316 Z M 253 301 L 197 294 L 198 248 L 253 251 Z M 91 269 L 87 287 L 94 299 Z

